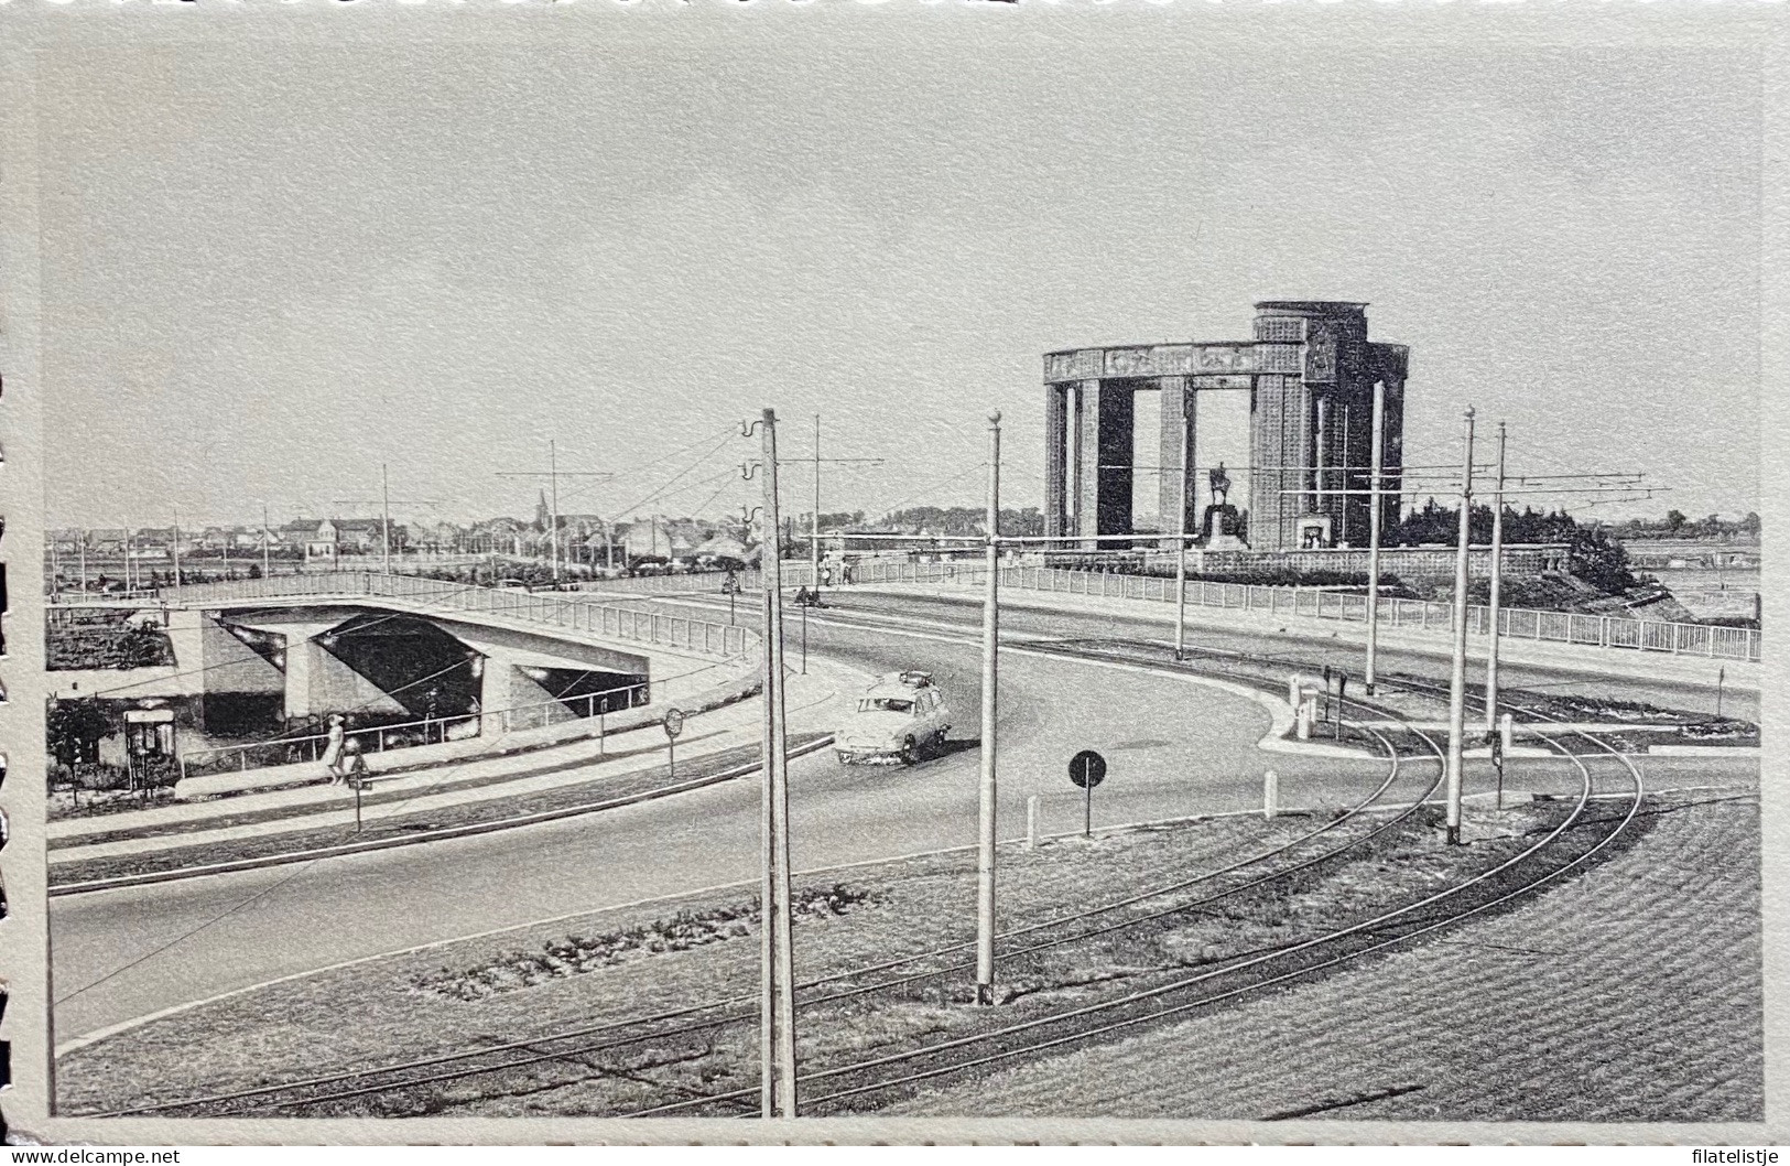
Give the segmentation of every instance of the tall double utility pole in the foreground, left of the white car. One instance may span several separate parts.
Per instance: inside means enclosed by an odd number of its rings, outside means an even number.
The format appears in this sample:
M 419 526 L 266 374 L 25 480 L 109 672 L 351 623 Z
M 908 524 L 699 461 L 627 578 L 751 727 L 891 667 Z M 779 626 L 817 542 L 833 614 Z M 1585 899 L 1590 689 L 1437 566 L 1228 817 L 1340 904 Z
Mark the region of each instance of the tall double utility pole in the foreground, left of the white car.
M 766 408 L 763 426 L 764 530 L 779 536 L 777 414 Z M 764 570 L 764 878 L 761 890 L 761 1110 L 766 1118 L 795 1118 L 795 976 L 789 955 L 789 754 L 784 725 L 782 562 L 775 544 L 761 552 Z

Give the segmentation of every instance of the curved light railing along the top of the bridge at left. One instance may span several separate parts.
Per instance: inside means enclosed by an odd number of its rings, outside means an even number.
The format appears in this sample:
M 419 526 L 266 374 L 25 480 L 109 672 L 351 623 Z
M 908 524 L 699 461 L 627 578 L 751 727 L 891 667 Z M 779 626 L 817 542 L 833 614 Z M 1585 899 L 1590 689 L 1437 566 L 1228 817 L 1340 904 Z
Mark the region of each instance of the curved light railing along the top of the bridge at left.
M 703 656 L 745 656 L 759 634 L 754 629 L 712 623 L 662 611 L 592 602 L 576 591 L 524 591 L 521 587 L 476 587 L 473 584 L 419 579 L 415 575 L 290 575 L 285 579 L 240 579 L 234 582 L 188 584 L 163 593 L 170 605 L 208 605 L 236 600 L 294 596 L 394 598 L 437 611 L 465 611 L 578 630 Z

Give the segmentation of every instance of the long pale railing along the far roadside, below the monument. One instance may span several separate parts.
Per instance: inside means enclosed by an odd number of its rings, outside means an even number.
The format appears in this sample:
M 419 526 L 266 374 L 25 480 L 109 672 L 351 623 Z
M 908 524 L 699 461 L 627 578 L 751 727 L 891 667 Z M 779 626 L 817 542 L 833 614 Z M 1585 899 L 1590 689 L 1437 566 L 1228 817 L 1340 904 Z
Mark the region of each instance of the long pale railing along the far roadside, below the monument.
M 854 564 L 852 582 L 891 584 L 916 582 L 938 586 L 979 587 L 988 568 L 974 561 L 943 562 L 890 562 L 872 561 Z M 1001 586 L 1022 591 L 1056 591 L 1067 595 L 1095 595 L 1108 598 L 1174 602 L 1174 580 L 1156 575 L 1121 575 L 1115 571 L 1085 571 L 1047 566 L 1002 566 Z M 1190 607 L 1232 607 L 1266 614 L 1289 614 L 1310 620 L 1339 620 L 1366 623 L 1368 596 L 1319 587 L 1271 587 L 1264 584 L 1233 584 L 1205 579 L 1187 580 Z M 1384 598 L 1380 622 L 1400 630 L 1453 629 L 1453 604 L 1432 600 Z M 1468 607 L 1468 632 L 1486 636 L 1491 629 L 1491 609 Z M 1640 652 L 1670 652 L 1674 656 L 1708 656 L 1715 659 L 1760 659 L 1760 630 L 1751 627 L 1718 627 L 1713 623 L 1668 623 L 1663 620 L 1622 620 L 1613 616 L 1581 614 L 1573 611 L 1538 611 L 1534 607 L 1500 607 L 1498 634 L 1511 639 L 1548 643 L 1577 643 L 1600 648 L 1634 648 Z

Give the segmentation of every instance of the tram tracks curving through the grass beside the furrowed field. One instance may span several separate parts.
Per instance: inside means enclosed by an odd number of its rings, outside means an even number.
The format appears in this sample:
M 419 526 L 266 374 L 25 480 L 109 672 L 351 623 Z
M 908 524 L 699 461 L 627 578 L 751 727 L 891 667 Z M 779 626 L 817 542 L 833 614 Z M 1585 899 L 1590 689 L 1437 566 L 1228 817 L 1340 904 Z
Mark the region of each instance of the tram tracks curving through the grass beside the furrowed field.
M 1038 645 L 1027 647 L 1036 648 Z M 1069 645 L 1054 645 L 1053 652 L 1090 659 L 1113 659 L 1112 654 L 1101 654 Z M 1223 656 L 1237 657 L 1240 654 L 1224 652 Z M 1285 661 L 1262 657 L 1258 663 L 1282 664 Z M 1169 672 L 1174 668 L 1162 670 Z M 1427 686 L 1411 684 L 1411 688 L 1421 690 Z M 1428 686 L 1428 690 L 1445 691 L 1434 690 L 1434 686 Z M 1375 713 L 1382 718 L 1391 715 L 1393 720 L 1400 720 L 1396 713 L 1359 699 L 1350 699 L 1344 704 L 1348 707 Z M 1557 720 L 1539 711 L 1520 709 L 1520 706 L 1511 707 L 1513 711 L 1523 711 L 1525 715 Z M 1017 962 L 1035 958 L 1045 951 L 1097 940 L 1115 931 L 1146 926 L 1174 915 L 1194 913 L 1224 897 L 1242 894 L 1276 879 L 1294 878 L 1348 853 L 1350 849 L 1360 847 L 1391 829 L 1396 829 L 1409 820 L 1411 815 L 1418 813 L 1434 795 L 1443 777 L 1441 767 L 1436 767 L 1434 777 L 1421 793 L 1411 797 L 1409 802 L 1396 806 L 1393 815 L 1369 822 L 1369 815 L 1385 808 L 1382 799 L 1387 797 L 1400 777 L 1400 749 L 1398 743 L 1385 733 L 1375 729 L 1364 731 L 1377 738 L 1378 745 L 1385 750 L 1389 758 L 1387 774 L 1378 788 L 1369 792 L 1368 797 L 1348 808 L 1337 819 L 1278 847 L 1266 849 L 1230 865 L 1214 870 L 1201 870 L 1190 876 L 1178 876 L 1171 881 L 1149 887 L 1117 901 L 1008 930 L 999 937 L 1002 949 L 997 953 L 997 960 L 1001 960 L 1004 967 L 1011 969 Z M 1414 743 L 1427 750 L 1427 754 L 1430 754 L 1436 761 L 1441 761 L 1443 749 L 1430 734 L 1414 729 L 1405 729 L 1405 733 Z M 886 1053 L 848 1064 L 814 1067 L 800 1078 L 804 1094 L 809 1094 L 804 1100 L 802 1112 L 831 1112 L 859 1105 L 863 1102 L 881 1102 L 888 1100 L 891 1094 L 911 1091 L 922 1082 L 954 1073 L 984 1069 L 999 1062 L 1101 1039 L 1142 1025 L 1174 1019 L 1198 1008 L 1235 999 L 1237 996 L 1248 992 L 1257 992 L 1273 985 L 1310 976 L 1350 960 L 1360 960 L 1393 946 L 1411 942 L 1421 935 L 1428 935 L 1436 930 L 1457 926 L 1464 919 L 1493 910 L 1495 906 L 1518 896 L 1530 894 L 1545 883 L 1561 878 L 1577 865 L 1590 862 L 1595 853 L 1609 845 L 1616 835 L 1627 827 L 1641 804 L 1638 770 L 1634 770 L 1625 758 L 1602 742 L 1590 738 L 1590 734 L 1581 736 L 1586 736 L 1593 747 L 1602 749 L 1627 767 L 1629 776 L 1632 777 L 1632 801 L 1627 813 L 1616 820 L 1615 827 L 1609 829 L 1600 840 L 1595 840 L 1577 856 L 1570 856 L 1568 862 L 1550 865 L 1538 872 L 1532 881 L 1514 888 L 1505 888 L 1502 881 L 1496 883 L 1496 887 L 1491 883 L 1491 879 L 1502 878 L 1516 865 L 1530 862 L 1548 847 L 1559 845 L 1561 838 L 1568 831 L 1579 827 L 1577 824 L 1584 815 L 1584 808 L 1595 795 L 1595 779 L 1590 765 L 1559 745 L 1556 745 L 1556 749 L 1572 758 L 1582 774 L 1581 797 L 1566 819 L 1561 820 L 1547 836 L 1491 870 L 1480 872 L 1471 879 L 1428 896 L 1418 903 L 1377 915 L 1375 919 L 1300 942 L 1246 953 L 1240 958 L 1226 962 L 1223 967 L 1201 971 L 1194 976 L 1176 978 L 1140 992 L 1131 992 L 1095 1005 L 1036 1016 L 1017 1025 L 1008 1025 L 983 1033 L 970 1033 L 931 1046 Z M 1359 836 L 1348 836 L 1344 827 L 1359 822 L 1369 824 L 1369 829 L 1362 831 Z M 1312 842 L 1321 842 L 1326 849 L 1321 849 L 1316 854 L 1300 854 L 1300 851 L 1308 847 Z M 1266 869 L 1257 872 L 1257 867 Z M 1199 888 L 1201 894 L 1192 899 L 1181 894 L 1196 888 Z M 1487 897 L 1486 894 L 1477 894 L 1475 890 L 1498 890 L 1498 894 Z M 1432 910 L 1437 906 L 1443 908 L 1441 913 Z M 847 1001 L 859 996 L 899 990 L 916 982 L 936 980 L 950 973 L 963 971 L 974 964 L 958 956 L 970 951 L 972 946 L 972 940 L 945 944 L 897 960 L 854 967 L 798 983 L 797 1007 L 800 1010 L 825 1003 Z M 102 1116 L 152 1112 L 206 1116 L 245 1112 L 315 1112 L 367 1098 L 401 1098 L 406 1093 L 446 1082 L 516 1075 L 521 1071 L 557 1066 L 571 1069 L 573 1075 L 562 1082 L 569 1085 L 580 1078 L 605 1075 L 605 1066 L 591 1060 L 603 1057 L 605 1053 L 614 1055 L 625 1050 L 639 1050 L 648 1044 L 653 1048 L 664 1048 L 668 1042 L 700 1042 L 705 1039 L 705 1033 L 714 1033 L 716 1030 L 723 1030 L 727 1026 L 755 1025 L 755 992 L 730 996 L 723 999 L 702 1001 L 686 1008 L 521 1037 L 474 1050 L 458 1050 L 453 1053 L 419 1057 L 365 1069 L 345 1069 L 340 1073 L 319 1075 L 254 1089 L 215 1093 L 175 1102 L 158 1102 L 152 1105 L 113 1110 Z M 818 1096 L 813 1096 L 816 1091 Z M 489 1094 L 482 1094 L 476 1100 L 483 1100 L 485 1096 Z M 675 1112 L 743 1114 L 755 1110 L 757 1098 L 759 1089 L 757 1085 L 752 1085 L 750 1089 L 678 1098 L 637 1109 L 630 1116 Z M 458 1105 L 464 1102 L 455 1103 Z

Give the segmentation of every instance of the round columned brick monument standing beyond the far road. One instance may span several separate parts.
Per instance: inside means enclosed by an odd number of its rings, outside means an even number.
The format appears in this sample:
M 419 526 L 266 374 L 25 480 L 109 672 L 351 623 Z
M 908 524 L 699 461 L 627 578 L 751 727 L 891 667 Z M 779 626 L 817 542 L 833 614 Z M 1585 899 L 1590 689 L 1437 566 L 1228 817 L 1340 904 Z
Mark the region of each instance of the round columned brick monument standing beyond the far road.
M 1368 340 L 1360 303 L 1264 301 L 1255 312 L 1255 340 L 1045 355 L 1049 534 L 1087 536 L 1088 548 L 1094 536 L 1183 530 L 1206 550 L 1364 544 L 1377 387 L 1382 518 L 1396 519 L 1409 351 Z M 1138 392 L 1162 401 L 1153 467 L 1135 459 Z M 1137 473 L 1160 482 L 1155 530 L 1133 523 Z

